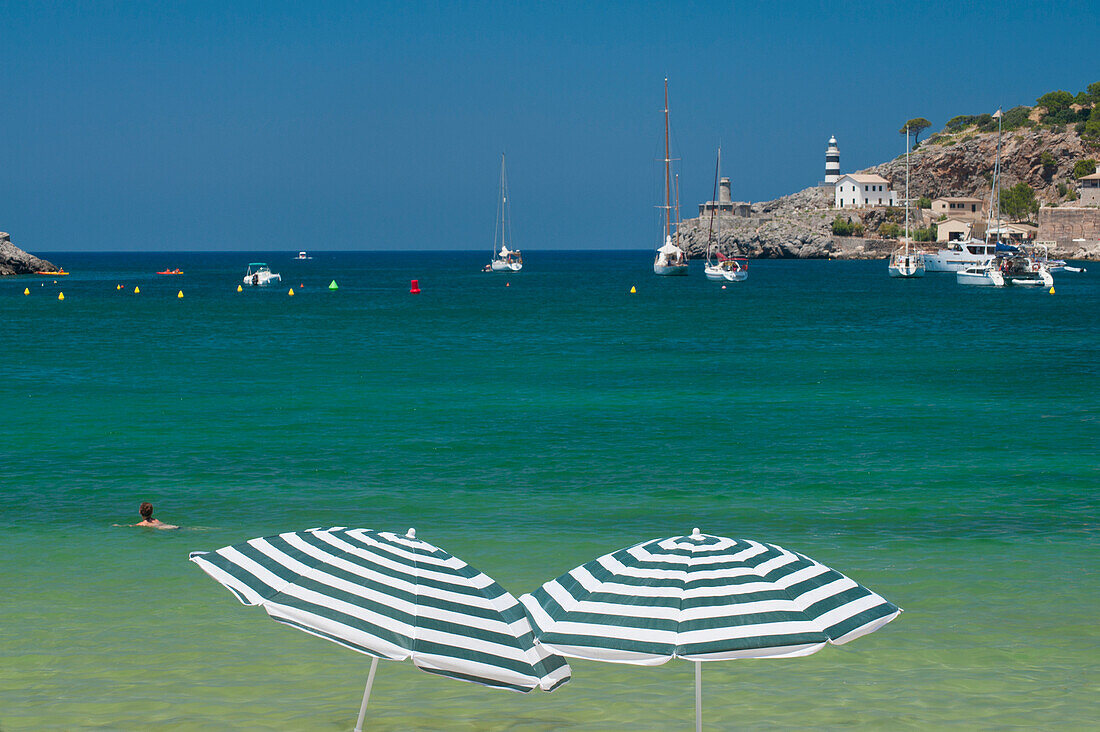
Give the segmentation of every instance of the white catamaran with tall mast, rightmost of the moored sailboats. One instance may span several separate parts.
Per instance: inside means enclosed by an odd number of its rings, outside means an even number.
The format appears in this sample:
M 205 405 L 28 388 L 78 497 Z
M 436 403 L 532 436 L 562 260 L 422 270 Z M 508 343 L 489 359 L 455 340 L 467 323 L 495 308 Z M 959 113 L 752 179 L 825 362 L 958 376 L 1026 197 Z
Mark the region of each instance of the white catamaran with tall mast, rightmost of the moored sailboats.
M 997 161 L 993 163 L 993 189 L 990 193 L 989 223 L 986 229 L 986 244 L 990 236 L 997 236 L 993 248 L 994 256 L 986 264 L 968 266 L 955 273 L 955 281 L 960 285 L 977 285 L 979 287 L 1003 287 L 1005 285 L 1054 287 L 1054 276 L 1048 269 L 1049 253 L 1045 247 L 1007 244 L 1001 241 L 1004 227 L 1001 226 L 1001 110 L 993 114 L 997 118 Z M 997 228 L 993 222 L 993 205 L 997 207 Z

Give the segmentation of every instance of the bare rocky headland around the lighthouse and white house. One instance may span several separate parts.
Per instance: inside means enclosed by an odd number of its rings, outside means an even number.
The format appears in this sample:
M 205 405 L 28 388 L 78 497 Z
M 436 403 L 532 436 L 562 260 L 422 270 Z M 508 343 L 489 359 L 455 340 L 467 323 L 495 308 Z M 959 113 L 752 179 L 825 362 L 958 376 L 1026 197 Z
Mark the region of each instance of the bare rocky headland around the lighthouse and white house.
M 1074 206 L 1075 165 L 1082 160 L 1100 160 L 1100 144 L 1084 139 L 1074 125 L 1021 128 L 1005 132 L 1001 143 L 1001 188 L 1027 184 L 1043 212 L 1053 207 Z M 935 222 L 931 211 L 916 206 L 921 197 L 974 196 L 988 201 L 996 159 L 997 132 L 981 132 L 976 125 L 922 141 L 910 153 L 910 196 L 914 201 L 910 209 L 911 227 Z M 857 172 L 881 175 L 899 198 L 904 197 L 904 154 Z M 837 215 L 861 223 L 864 237 L 834 236 L 832 225 Z M 1100 225 L 1100 211 L 1096 220 Z M 904 209 L 834 209 L 832 189 L 814 186 L 752 204 L 748 216 L 723 212 L 719 247 L 727 254 L 758 259 L 882 259 L 899 245 L 897 239 L 878 234 L 886 221 L 903 222 Z M 682 242 L 692 258 L 706 255 L 710 228 L 710 214 L 683 221 Z M 1040 238 L 1043 233 L 1041 227 Z M 1096 236 L 1084 244 L 1070 244 L 1068 240 L 1059 240 L 1059 244 L 1053 252 L 1058 256 L 1100 260 L 1100 241 Z

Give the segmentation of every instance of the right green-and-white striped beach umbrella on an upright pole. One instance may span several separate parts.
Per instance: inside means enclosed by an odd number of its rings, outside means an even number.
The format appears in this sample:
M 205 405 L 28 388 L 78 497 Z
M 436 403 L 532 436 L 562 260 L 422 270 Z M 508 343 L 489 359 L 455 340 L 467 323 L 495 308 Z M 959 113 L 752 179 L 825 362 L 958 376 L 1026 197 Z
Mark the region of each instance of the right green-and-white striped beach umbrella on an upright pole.
M 877 631 L 901 610 L 810 557 L 701 534 L 642 542 L 519 598 L 539 644 L 571 658 L 695 664 L 809 656 Z

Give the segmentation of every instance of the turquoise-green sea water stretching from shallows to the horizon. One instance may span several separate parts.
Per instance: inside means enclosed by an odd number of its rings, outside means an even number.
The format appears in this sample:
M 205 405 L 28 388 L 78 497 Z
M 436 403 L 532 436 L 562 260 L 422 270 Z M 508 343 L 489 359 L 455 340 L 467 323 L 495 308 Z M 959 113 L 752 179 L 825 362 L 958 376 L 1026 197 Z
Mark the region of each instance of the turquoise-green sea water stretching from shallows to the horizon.
M 698 526 L 904 608 L 809 658 L 704 665 L 708 729 L 1100 719 L 1100 271 L 1052 296 L 884 262 L 722 289 L 647 252 L 290 256 L 0 281 L 0 729 L 351 729 L 369 658 L 187 561 L 320 525 L 415 526 L 515 594 Z M 237 293 L 256 259 L 284 285 Z M 112 527 L 143 500 L 184 528 Z M 382 663 L 367 720 L 690 729 L 692 674 L 579 662 L 522 696 Z

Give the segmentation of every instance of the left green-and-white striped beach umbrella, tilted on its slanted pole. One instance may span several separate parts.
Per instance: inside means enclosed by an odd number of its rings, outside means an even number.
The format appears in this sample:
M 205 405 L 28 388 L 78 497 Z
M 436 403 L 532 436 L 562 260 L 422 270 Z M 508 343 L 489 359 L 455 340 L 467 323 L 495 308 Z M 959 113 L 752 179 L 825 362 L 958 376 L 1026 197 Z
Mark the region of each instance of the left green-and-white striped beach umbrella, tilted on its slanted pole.
M 513 596 L 411 528 L 311 528 L 190 559 L 242 603 L 373 656 L 356 731 L 378 658 L 514 691 L 551 691 L 569 680 L 565 660 L 535 644 Z

